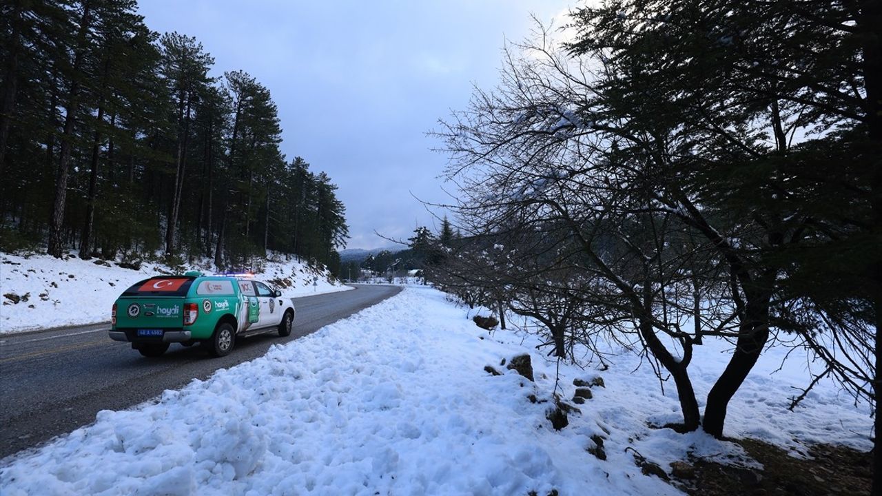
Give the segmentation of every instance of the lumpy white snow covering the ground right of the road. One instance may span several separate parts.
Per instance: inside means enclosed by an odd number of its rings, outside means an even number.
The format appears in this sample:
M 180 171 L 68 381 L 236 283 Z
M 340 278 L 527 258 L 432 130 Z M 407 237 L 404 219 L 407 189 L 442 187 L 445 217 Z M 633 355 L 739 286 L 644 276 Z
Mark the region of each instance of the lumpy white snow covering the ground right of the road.
M 273 346 L 265 357 L 166 391 L 38 451 L 0 462 L 0 492 L 19 494 L 676 494 L 635 465 L 633 451 L 669 470 L 688 453 L 738 460 L 702 432 L 647 427 L 676 420 L 675 393 L 647 364 L 620 352 L 609 370 L 561 364 L 572 380 L 602 377 L 570 425 L 546 410 L 557 363 L 537 339 L 489 334 L 434 289 L 410 287 L 381 304 Z M 725 365 L 708 342 L 691 369 L 699 397 Z M 503 358 L 529 353 L 535 383 Z M 811 441 L 869 449 L 871 419 L 829 383 L 786 410 L 803 366 L 778 368 L 771 349 L 729 407 L 727 434 L 797 447 Z M 492 376 L 484 367 L 496 367 Z M 635 371 L 635 369 L 637 369 Z M 535 395 L 539 402 L 531 402 Z M 604 440 L 606 461 L 587 452 Z M 627 451 L 626 451 L 627 449 Z

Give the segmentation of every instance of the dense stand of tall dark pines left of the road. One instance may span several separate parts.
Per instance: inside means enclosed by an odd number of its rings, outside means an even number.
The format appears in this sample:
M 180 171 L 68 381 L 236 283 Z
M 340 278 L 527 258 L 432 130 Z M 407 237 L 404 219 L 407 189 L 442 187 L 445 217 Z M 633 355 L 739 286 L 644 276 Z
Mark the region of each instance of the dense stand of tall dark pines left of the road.
M 0 248 L 217 267 L 275 250 L 339 265 L 336 185 L 281 154 L 257 79 L 212 77 L 201 43 L 153 33 L 134 0 L 0 9 Z

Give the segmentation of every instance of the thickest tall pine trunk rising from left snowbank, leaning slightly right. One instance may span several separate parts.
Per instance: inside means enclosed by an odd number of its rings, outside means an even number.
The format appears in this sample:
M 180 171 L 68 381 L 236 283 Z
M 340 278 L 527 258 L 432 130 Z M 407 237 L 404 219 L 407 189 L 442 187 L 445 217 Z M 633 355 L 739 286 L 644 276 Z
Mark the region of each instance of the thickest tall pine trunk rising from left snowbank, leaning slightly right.
M 77 35 L 77 51 L 73 58 L 73 70 L 71 72 L 71 90 L 68 94 L 66 116 L 64 116 L 64 134 L 61 142 L 61 155 L 58 158 L 56 172 L 55 199 L 52 202 L 52 216 L 49 221 L 49 247 L 47 252 L 60 258 L 64 249 L 64 206 L 67 199 L 67 175 L 68 165 L 71 162 L 71 148 L 73 147 L 73 129 L 79 110 L 79 70 L 86 55 L 86 32 L 89 29 L 89 2 L 83 4 L 83 17 L 80 19 L 79 33 Z

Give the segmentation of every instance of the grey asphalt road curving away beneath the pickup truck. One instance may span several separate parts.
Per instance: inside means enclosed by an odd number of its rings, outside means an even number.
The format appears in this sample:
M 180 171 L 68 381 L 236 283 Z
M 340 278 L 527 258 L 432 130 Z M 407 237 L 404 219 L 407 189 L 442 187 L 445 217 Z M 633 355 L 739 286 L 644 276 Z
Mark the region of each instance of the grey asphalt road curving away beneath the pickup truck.
M 311 334 L 398 293 L 392 286 L 356 286 L 294 300 L 294 332 L 235 342 L 227 357 L 200 346 L 172 344 L 158 358 L 108 338 L 109 322 L 25 334 L 0 334 L 0 459 L 91 424 L 99 410 L 123 410 L 166 389 L 205 380 L 215 370 L 260 357 L 270 345 Z

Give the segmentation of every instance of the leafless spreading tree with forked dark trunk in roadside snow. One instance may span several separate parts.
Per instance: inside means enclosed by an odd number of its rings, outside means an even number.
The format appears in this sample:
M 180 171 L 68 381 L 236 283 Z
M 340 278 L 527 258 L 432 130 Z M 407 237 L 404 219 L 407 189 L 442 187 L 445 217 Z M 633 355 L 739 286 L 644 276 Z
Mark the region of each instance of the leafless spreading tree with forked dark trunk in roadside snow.
M 492 93 L 477 89 L 469 109 L 442 123 L 437 134 L 452 159 L 446 178 L 462 194 L 457 213 L 476 234 L 564 226 L 585 259 L 573 270 L 608 289 L 587 299 L 633 319 L 674 378 L 686 429 L 699 423 L 686 372 L 693 345 L 702 336 L 733 340 L 704 417 L 706 431 L 720 436 L 772 327 L 804 331 L 782 310 L 794 296 L 774 254 L 830 237 L 779 196 L 811 185 L 783 187 L 786 171 L 731 176 L 786 157 L 781 129 L 796 129 L 802 117 L 796 107 L 726 114 L 691 101 L 698 117 L 677 120 L 682 112 L 663 113 L 668 95 L 631 86 L 656 100 L 633 98 L 619 91 L 621 67 L 603 48 L 588 55 L 561 54 L 540 32 L 534 44 L 507 49 Z M 771 148 L 766 124 L 779 137 Z M 698 312 L 697 325 L 684 327 Z

